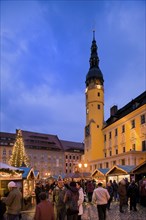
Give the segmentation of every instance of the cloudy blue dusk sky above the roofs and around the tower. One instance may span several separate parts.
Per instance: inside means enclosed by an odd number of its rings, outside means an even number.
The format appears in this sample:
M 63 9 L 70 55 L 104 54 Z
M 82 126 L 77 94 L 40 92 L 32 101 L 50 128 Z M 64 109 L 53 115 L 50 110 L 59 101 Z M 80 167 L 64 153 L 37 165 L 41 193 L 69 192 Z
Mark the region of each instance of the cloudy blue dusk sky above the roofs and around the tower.
M 146 1 L 1 0 L 0 131 L 84 141 L 93 29 L 105 120 L 146 89 Z

